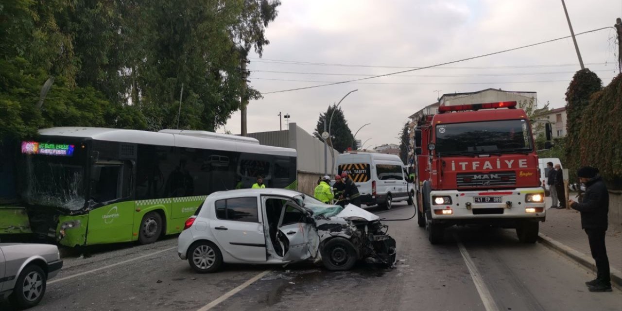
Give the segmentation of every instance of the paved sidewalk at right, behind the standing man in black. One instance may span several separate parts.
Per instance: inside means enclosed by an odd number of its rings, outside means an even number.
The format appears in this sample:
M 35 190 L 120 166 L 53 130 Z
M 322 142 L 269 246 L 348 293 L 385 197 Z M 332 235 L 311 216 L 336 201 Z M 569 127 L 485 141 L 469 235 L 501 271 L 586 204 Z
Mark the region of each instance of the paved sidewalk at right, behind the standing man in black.
M 547 199 L 548 208 L 550 198 Z M 587 234 L 581 229 L 578 211 L 547 209 L 546 221 L 540 224 L 540 242 L 595 271 Z M 611 282 L 622 287 L 622 232 L 609 228 L 605 245 L 611 267 Z

